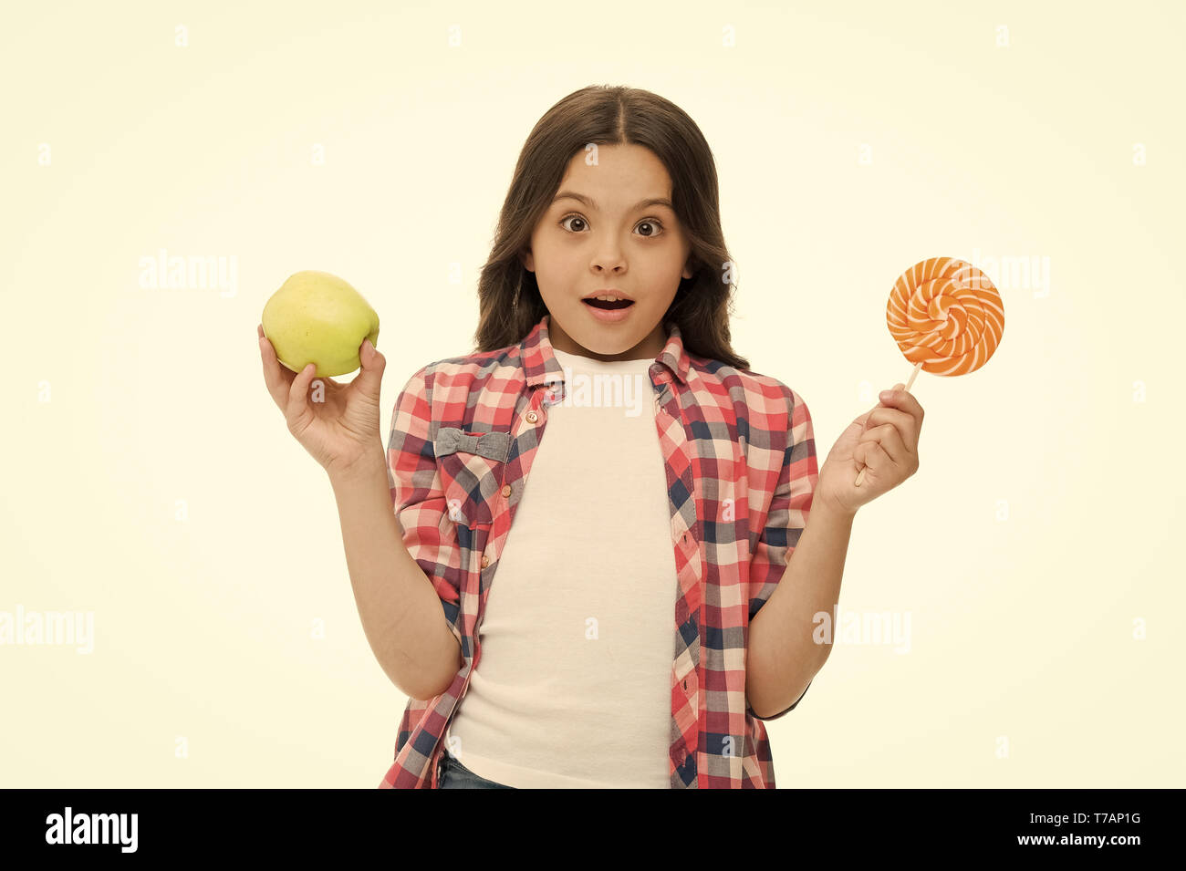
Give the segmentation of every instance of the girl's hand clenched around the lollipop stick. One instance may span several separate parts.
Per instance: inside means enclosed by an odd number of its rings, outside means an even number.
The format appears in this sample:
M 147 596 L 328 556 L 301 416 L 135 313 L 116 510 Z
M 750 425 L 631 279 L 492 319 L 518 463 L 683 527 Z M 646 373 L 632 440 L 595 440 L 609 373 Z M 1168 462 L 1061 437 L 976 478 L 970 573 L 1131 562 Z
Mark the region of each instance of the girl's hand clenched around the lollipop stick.
M 846 514 L 886 493 L 918 470 L 923 406 L 905 384 L 881 393 L 881 402 L 859 416 L 828 451 L 815 499 Z M 865 469 L 861 486 L 856 476 Z

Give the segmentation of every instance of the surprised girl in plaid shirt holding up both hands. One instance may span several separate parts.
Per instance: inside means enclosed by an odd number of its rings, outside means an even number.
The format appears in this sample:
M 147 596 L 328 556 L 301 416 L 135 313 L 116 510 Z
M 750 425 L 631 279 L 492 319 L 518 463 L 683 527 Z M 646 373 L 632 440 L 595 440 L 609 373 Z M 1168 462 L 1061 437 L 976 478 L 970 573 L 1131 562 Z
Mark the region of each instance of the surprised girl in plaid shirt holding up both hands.
M 528 137 L 477 350 L 412 376 L 385 455 L 383 356 L 310 402 L 261 328 L 409 697 L 381 787 L 774 786 L 763 722 L 827 660 L 853 518 L 918 468 L 923 410 L 897 385 L 817 467 L 803 399 L 729 345 L 731 267 L 700 128 L 591 87 Z

